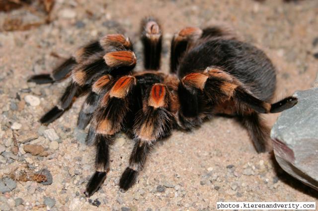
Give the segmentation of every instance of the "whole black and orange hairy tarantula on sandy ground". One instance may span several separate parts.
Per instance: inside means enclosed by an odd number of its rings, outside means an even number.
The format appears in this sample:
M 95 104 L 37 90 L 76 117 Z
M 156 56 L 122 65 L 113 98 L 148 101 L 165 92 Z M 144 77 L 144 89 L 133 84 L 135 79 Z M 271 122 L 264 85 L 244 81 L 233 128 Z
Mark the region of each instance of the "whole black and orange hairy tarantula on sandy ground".
M 218 113 L 238 117 L 247 128 L 257 152 L 264 152 L 269 128 L 259 113 L 281 112 L 297 99 L 271 104 L 276 86 L 275 68 L 256 47 L 239 41 L 220 27 L 186 27 L 171 41 L 170 74 L 160 73 L 162 34 L 155 18 L 142 22 L 144 72 L 135 72 L 136 56 L 129 38 L 108 34 L 79 48 L 51 75 L 32 76 L 37 84 L 54 83 L 68 76 L 71 82 L 60 103 L 41 123 L 48 124 L 87 94 L 78 127 L 90 122 L 87 144 L 96 146 L 96 171 L 85 195 L 103 184 L 109 166 L 113 136 L 124 131 L 133 138 L 129 166 L 119 185 L 134 185 L 150 149 L 174 128 L 189 130 Z

